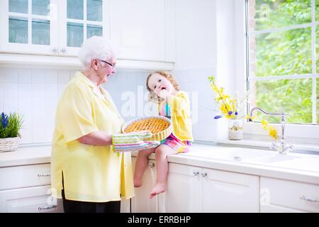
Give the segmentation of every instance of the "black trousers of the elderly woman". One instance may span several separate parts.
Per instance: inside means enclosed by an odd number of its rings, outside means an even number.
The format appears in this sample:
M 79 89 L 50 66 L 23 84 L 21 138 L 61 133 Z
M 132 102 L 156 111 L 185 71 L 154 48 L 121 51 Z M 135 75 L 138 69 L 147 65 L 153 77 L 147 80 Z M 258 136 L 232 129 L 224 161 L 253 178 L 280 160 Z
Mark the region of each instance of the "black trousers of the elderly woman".
M 62 186 L 65 187 L 62 173 Z M 65 213 L 120 213 L 121 201 L 107 201 L 96 203 L 91 201 L 74 201 L 65 199 L 65 190 L 62 189 L 63 209 Z

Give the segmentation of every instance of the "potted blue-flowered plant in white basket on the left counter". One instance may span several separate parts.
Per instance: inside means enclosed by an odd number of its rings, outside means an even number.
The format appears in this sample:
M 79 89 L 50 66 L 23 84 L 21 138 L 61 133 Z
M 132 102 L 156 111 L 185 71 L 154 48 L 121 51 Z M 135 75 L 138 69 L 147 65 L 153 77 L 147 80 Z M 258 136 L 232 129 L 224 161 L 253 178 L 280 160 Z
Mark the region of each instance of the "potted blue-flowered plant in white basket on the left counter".
M 18 113 L 1 114 L 0 123 L 0 152 L 14 151 L 18 148 L 21 135 L 19 131 L 23 117 Z

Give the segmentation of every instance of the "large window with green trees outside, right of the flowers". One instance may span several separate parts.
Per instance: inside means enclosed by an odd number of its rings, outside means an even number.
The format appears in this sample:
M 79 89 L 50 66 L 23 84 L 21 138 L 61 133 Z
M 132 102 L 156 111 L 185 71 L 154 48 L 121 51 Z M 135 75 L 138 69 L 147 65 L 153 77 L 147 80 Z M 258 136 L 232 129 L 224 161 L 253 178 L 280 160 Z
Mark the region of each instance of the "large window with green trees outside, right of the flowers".
M 250 109 L 284 109 L 288 123 L 319 124 L 319 0 L 246 0 L 246 12 Z

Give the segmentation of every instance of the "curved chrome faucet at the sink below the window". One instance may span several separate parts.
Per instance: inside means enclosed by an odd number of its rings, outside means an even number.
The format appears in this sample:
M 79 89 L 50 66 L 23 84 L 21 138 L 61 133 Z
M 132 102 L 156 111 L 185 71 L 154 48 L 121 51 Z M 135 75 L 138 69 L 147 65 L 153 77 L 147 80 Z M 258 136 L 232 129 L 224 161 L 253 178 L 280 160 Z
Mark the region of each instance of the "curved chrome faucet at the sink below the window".
M 284 113 L 284 109 L 281 111 L 280 114 L 276 113 L 267 113 L 266 111 L 260 109 L 259 107 L 254 107 L 250 111 L 250 118 L 252 118 L 252 113 L 256 110 L 262 111 L 262 113 L 267 114 L 267 115 L 272 115 L 272 116 L 281 116 L 281 139 L 279 142 L 272 142 L 272 149 L 275 149 L 279 152 L 281 155 L 285 155 L 289 153 L 292 150 L 295 150 L 293 147 L 293 143 L 286 143 L 285 139 L 285 125 L 286 125 L 286 116 L 288 114 Z

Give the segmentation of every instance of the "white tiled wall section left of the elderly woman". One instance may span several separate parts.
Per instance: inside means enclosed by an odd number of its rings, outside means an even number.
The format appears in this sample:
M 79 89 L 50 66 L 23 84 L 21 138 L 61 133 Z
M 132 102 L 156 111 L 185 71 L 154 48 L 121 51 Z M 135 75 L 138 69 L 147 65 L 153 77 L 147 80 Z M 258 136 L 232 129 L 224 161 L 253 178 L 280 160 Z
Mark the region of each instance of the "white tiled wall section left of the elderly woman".
M 23 114 L 21 143 L 50 143 L 55 107 L 74 72 L 0 68 L 0 111 Z

